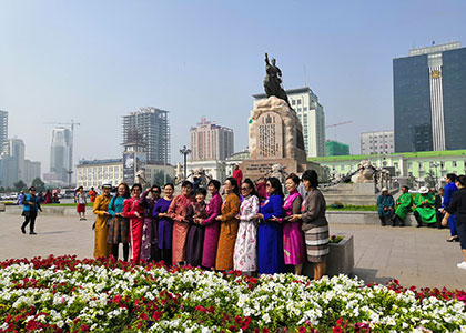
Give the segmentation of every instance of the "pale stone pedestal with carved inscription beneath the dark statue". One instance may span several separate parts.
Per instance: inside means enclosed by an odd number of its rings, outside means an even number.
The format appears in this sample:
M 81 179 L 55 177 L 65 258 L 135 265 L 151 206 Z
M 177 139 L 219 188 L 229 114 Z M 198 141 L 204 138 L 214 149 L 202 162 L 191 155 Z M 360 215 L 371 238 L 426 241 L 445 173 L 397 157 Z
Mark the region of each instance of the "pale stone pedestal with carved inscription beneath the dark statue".
M 281 164 L 286 173 L 311 168 L 322 173 L 317 163 L 307 162 L 302 124 L 284 100 L 270 97 L 257 102 L 251 112 L 249 134 L 251 157 L 241 164 L 244 178 L 256 180 L 274 164 Z

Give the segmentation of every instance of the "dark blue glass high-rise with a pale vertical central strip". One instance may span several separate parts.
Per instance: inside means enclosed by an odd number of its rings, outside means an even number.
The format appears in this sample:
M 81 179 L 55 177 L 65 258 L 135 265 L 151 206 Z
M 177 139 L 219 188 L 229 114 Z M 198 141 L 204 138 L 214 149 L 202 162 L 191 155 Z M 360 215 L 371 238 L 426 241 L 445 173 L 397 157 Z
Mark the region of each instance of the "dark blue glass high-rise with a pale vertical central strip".
M 393 60 L 395 151 L 466 148 L 466 48 L 449 42 Z

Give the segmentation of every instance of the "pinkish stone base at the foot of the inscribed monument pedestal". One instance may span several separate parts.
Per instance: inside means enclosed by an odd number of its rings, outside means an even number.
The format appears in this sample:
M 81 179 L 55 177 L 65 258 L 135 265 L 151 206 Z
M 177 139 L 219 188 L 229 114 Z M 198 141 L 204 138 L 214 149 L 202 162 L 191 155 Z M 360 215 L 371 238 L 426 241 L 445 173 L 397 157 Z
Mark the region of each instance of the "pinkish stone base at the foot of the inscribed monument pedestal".
M 241 162 L 240 169 L 243 172 L 243 179 L 251 179 L 256 181 L 261 176 L 269 174 L 272 171 L 272 167 L 281 164 L 286 174 L 296 173 L 302 174 L 306 170 L 315 170 L 322 179 L 324 174 L 323 168 L 314 162 L 298 162 L 295 159 L 264 159 L 264 160 L 244 160 Z

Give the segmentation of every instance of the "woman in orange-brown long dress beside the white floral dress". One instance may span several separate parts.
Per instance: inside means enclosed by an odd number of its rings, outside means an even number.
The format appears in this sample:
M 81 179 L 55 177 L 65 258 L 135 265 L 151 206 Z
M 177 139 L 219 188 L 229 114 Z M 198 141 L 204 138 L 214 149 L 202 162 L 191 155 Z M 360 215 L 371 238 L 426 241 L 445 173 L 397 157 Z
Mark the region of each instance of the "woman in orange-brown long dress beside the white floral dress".
M 215 259 L 215 269 L 219 271 L 233 269 L 233 252 L 237 234 L 236 215 L 241 205 L 240 190 L 234 178 L 227 178 L 223 189 L 225 190 L 225 201 L 222 204 L 222 214 L 215 218 L 221 223 Z

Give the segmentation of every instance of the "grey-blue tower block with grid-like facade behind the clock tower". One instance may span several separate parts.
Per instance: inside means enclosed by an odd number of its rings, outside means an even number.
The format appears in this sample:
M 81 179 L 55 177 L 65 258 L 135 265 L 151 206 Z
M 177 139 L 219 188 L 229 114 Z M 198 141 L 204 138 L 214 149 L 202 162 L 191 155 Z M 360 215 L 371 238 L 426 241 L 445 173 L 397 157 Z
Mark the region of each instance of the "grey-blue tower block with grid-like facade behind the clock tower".
M 138 143 L 144 145 L 148 163 L 170 163 L 169 111 L 155 108 L 140 108 L 139 111 L 123 115 L 123 145 Z

